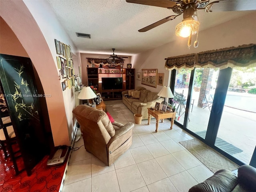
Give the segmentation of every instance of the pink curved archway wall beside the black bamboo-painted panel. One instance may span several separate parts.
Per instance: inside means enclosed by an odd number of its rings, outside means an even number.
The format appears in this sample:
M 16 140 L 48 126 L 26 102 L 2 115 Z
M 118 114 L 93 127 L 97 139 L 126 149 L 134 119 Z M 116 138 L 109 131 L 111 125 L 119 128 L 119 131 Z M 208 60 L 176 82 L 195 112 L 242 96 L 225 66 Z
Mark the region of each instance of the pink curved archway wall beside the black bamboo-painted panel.
M 38 24 L 23 1 L 0 1 L 0 12 L 32 60 L 44 93 L 51 94 L 51 97 L 46 98 L 46 103 L 54 145 L 70 145 L 58 70 Z

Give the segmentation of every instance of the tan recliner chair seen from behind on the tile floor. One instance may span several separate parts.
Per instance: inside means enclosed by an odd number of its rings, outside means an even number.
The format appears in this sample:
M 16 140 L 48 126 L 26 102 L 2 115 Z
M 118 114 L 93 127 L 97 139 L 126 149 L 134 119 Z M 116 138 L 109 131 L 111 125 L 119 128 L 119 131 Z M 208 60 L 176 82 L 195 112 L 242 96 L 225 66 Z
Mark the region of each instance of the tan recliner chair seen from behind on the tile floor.
M 87 105 L 79 105 L 73 114 L 80 124 L 86 151 L 110 166 L 132 145 L 133 123 L 110 122 L 108 115 Z

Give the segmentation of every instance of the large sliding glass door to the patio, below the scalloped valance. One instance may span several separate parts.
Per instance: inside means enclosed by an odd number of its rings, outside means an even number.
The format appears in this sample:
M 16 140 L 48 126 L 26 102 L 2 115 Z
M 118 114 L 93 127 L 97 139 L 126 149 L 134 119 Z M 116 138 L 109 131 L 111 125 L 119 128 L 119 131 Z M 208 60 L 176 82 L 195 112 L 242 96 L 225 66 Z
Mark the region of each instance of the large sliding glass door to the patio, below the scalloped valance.
M 238 164 L 256 161 L 256 68 L 182 69 L 172 76 L 175 123 Z

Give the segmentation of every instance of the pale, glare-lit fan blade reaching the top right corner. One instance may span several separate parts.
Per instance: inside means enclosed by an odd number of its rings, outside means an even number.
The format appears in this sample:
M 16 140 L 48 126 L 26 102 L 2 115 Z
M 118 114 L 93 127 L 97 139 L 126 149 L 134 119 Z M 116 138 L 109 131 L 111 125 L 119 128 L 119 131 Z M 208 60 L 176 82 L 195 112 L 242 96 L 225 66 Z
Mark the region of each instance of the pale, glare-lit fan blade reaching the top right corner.
M 215 3 L 216 2 L 216 3 Z M 207 11 L 207 9 L 209 11 Z M 256 10 L 255 0 L 218 0 L 206 6 L 206 12 Z

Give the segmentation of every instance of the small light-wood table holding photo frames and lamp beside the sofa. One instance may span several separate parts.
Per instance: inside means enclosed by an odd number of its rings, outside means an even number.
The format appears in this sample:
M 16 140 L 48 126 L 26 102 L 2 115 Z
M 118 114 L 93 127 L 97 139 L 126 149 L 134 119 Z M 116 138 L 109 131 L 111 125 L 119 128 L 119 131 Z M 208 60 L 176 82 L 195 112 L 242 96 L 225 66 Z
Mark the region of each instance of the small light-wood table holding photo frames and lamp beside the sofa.
M 164 119 L 172 118 L 171 127 L 170 127 L 170 129 L 172 129 L 176 112 L 161 112 L 161 111 L 156 111 L 156 110 L 152 110 L 151 108 L 148 108 L 148 125 L 150 125 L 151 115 L 154 118 L 156 118 L 156 132 L 158 132 L 158 124 L 160 119 L 162 119 L 162 122 L 164 122 Z

